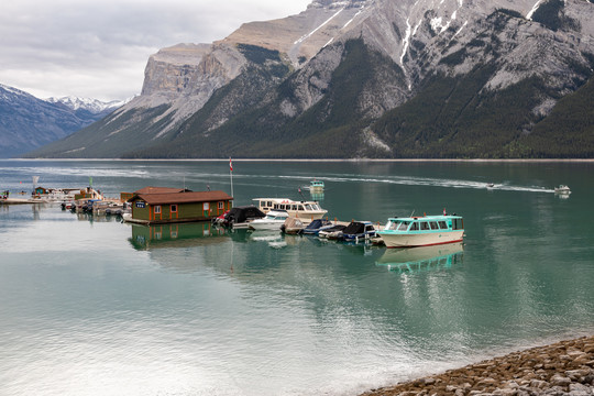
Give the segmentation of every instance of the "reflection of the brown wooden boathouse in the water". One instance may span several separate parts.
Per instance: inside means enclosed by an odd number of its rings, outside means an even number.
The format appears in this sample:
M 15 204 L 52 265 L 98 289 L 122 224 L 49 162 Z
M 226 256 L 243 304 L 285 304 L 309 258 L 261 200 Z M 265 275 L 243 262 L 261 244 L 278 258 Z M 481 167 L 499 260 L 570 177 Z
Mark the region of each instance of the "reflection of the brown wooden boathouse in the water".
M 172 223 L 158 226 L 131 224 L 130 243 L 136 250 L 183 248 L 226 241 L 227 230 L 210 222 Z

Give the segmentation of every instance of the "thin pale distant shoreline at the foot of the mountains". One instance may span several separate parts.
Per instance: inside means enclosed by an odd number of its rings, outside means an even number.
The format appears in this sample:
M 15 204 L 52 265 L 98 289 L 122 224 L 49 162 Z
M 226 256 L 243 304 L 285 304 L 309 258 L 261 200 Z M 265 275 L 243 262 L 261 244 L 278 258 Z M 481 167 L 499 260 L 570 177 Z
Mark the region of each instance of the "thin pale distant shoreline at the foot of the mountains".
M 594 158 L 0 158 L 0 161 L 89 162 L 302 162 L 302 163 L 594 163 Z

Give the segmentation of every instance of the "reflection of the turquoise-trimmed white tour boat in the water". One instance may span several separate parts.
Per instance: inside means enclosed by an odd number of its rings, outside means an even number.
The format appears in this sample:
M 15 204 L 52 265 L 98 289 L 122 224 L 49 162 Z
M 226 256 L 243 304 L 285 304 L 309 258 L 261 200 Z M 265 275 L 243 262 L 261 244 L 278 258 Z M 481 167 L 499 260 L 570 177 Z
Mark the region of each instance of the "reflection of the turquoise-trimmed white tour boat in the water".
M 462 263 L 464 248 L 462 242 L 435 246 L 386 249 L 386 252 L 375 263 L 387 266 L 388 271 L 411 273 L 451 268 Z

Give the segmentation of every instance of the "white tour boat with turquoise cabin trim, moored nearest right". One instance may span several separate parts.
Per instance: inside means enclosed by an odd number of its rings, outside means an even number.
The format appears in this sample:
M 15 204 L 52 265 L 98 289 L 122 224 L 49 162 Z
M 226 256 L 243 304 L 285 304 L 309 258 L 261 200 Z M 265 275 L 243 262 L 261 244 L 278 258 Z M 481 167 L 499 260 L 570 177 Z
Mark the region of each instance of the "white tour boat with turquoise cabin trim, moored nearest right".
M 377 231 L 386 248 L 430 246 L 462 242 L 464 220 L 457 215 L 389 218 Z

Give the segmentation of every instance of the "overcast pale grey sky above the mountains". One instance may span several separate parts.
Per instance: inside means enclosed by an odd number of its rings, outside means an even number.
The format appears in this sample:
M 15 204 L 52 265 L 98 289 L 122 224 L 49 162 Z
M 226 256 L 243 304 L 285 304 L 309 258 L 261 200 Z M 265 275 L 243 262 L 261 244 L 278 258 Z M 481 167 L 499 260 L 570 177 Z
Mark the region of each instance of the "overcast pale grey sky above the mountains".
M 38 98 L 140 94 L 151 54 L 211 43 L 311 0 L 1 0 L 0 84 Z

